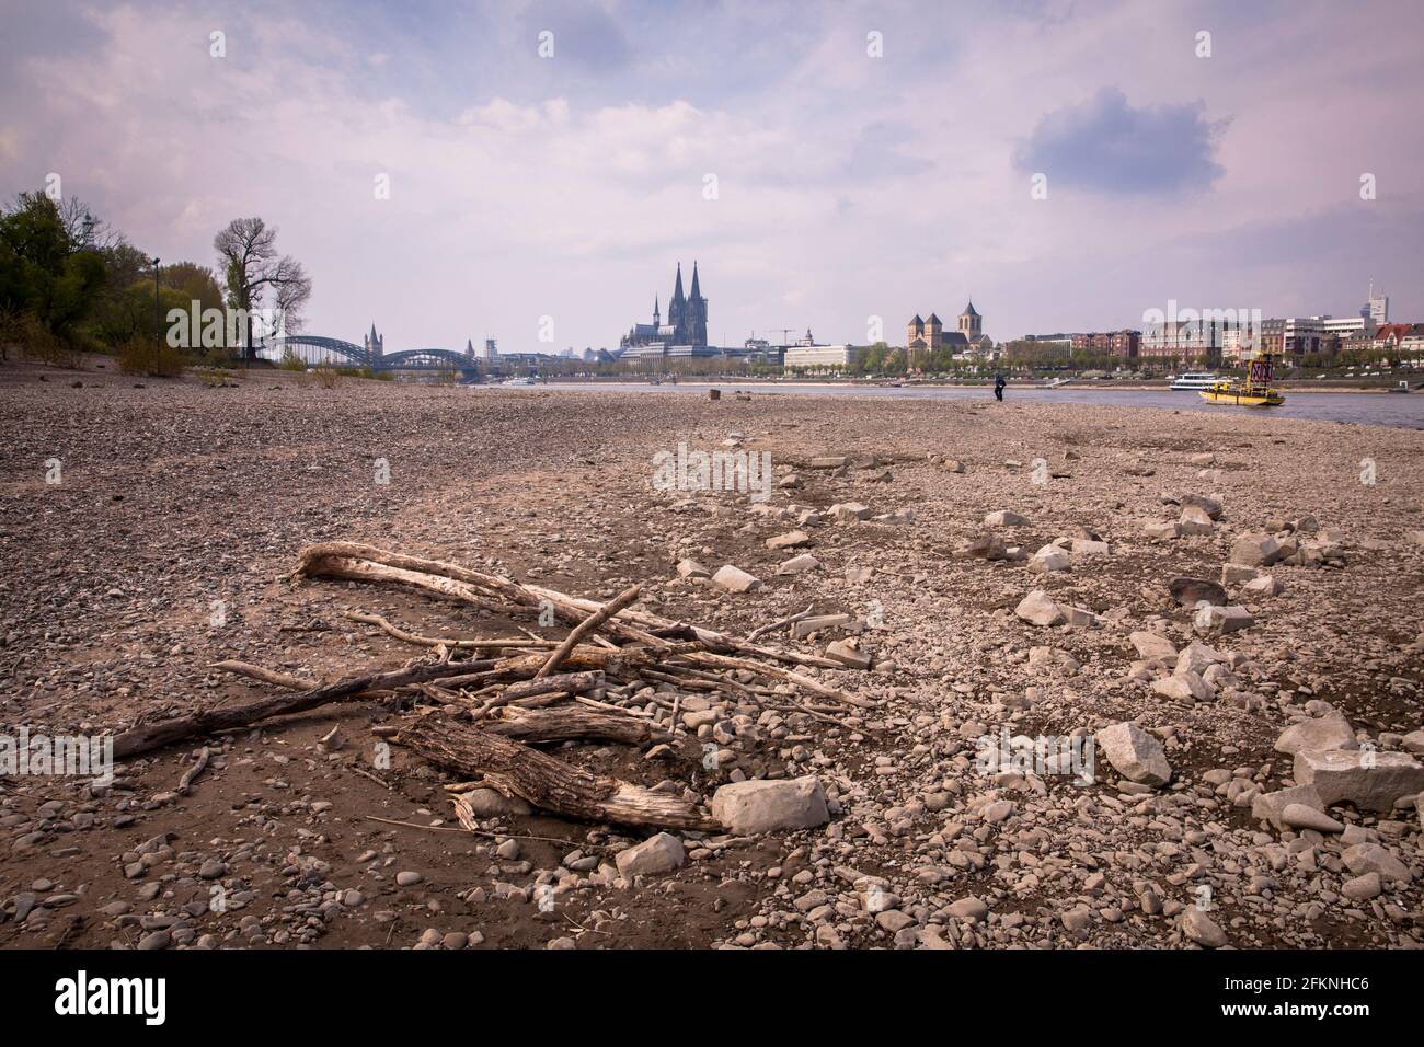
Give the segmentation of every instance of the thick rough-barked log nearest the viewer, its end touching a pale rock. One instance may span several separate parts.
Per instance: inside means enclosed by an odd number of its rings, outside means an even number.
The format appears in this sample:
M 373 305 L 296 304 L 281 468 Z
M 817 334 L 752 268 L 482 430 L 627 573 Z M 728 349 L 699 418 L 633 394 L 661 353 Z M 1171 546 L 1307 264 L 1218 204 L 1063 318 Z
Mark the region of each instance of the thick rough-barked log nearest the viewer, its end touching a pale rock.
M 397 744 L 437 766 L 483 778 L 500 792 L 565 818 L 659 829 L 716 829 L 715 821 L 681 796 L 571 766 L 490 731 L 443 717 L 424 717 Z

